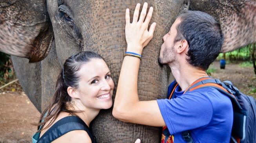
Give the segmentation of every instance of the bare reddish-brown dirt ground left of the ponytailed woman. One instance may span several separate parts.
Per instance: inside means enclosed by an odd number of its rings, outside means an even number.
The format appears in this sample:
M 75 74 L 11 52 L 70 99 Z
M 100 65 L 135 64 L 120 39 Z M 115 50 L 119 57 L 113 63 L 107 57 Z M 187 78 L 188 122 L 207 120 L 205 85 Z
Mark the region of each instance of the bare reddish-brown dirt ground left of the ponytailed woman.
M 39 116 L 24 92 L 0 93 L 0 143 L 31 143 Z

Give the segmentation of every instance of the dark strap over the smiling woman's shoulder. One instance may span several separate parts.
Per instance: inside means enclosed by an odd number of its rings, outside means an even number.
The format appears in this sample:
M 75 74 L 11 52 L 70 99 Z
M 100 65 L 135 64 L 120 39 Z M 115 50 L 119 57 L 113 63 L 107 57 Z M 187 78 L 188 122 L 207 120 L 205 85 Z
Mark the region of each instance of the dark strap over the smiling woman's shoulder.
M 37 143 L 50 143 L 72 130 L 85 130 L 90 136 L 92 143 L 96 143 L 89 127 L 77 116 L 67 116 L 54 123 L 54 125 L 43 134 Z

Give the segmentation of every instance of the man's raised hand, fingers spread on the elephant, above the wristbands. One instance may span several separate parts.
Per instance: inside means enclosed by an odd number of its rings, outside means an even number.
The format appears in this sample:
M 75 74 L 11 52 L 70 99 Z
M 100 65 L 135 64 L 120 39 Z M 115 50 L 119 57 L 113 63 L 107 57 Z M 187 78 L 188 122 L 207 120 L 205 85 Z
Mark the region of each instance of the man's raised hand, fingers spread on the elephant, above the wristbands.
M 136 52 L 138 54 L 142 54 L 143 48 L 153 38 L 156 23 L 152 23 L 149 30 L 147 30 L 149 21 L 152 17 L 153 7 L 150 7 L 149 12 L 147 13 L 146 2 L 143 5 L 142 12 L 140 13 L 140 18 L 138 20 L 139 11 L 140 4 L 137 4 L 133 14 L 133 23 L 130 23 L 130 12 L 129 9 L 126 9 L 125 39 L 127 42 L 127 52 Z

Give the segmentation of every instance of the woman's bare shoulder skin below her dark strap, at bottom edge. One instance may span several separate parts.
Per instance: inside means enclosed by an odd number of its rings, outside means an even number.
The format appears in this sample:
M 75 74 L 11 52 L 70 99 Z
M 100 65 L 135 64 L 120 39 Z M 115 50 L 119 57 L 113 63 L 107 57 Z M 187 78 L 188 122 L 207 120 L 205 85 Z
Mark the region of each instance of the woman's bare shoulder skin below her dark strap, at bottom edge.
M 53 143 L 91 143 L 91 138 L 85 130 L 73 130 L 55 139 Z

